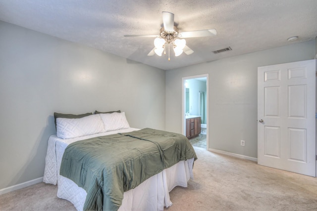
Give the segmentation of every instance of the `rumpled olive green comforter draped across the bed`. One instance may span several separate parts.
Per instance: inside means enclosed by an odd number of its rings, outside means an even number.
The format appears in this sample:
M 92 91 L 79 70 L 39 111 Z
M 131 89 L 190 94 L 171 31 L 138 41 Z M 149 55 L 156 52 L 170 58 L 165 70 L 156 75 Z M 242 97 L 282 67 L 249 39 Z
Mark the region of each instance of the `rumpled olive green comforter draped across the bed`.
M 116 211 L 124 191 L 191 158 L 196 153 L 185 136 L 144 128 L 69 144 L 60 175 L 86 190 L 85 211 Z

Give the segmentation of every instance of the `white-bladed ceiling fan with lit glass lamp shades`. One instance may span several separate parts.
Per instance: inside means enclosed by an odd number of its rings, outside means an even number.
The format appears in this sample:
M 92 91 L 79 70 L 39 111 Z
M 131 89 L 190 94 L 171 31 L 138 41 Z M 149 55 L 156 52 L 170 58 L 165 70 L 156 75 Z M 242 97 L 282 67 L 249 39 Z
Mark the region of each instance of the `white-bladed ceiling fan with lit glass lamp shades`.
M 163 28 L 160 29 L 159 35 L 124 35 L 124 37 L 142 37 L 142 38 L 156 38 L 154 40 L 154 48 L 150 51 L 148 56 L 157 54 L 159 56 L 166 54 L 168 45 L 168 61 L 170 45 L 173 47 L 175 56 L 181 55 L 185 52 L 187 55 L 192 54 L 194 51 L 186 45 L 186 41 L 181 38 L 198 38 L 215 36 L 217 31 L 215 29 L 179 32 L 177 27 L 174 26 L 174 14 L 171 12 L 162 12 Z

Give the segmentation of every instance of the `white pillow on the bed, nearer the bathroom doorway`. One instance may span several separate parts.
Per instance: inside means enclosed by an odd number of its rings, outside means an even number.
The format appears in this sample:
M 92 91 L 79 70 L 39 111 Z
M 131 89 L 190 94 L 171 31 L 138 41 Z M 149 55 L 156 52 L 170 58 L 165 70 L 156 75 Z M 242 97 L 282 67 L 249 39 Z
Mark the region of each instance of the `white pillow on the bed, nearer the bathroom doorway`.
M 125 118 L 124 112 L 99 115 L 104 123 L 106 132 L 130 127 L 127 119 Z

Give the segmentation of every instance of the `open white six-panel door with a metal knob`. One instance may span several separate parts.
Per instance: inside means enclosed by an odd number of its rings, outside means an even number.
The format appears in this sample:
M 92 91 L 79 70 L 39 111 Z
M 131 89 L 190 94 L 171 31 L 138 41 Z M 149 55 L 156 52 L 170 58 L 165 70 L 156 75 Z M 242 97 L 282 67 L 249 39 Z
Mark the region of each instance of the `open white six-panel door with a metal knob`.
M 316 60 L 258 68 L 258 164 L 316 176 Z

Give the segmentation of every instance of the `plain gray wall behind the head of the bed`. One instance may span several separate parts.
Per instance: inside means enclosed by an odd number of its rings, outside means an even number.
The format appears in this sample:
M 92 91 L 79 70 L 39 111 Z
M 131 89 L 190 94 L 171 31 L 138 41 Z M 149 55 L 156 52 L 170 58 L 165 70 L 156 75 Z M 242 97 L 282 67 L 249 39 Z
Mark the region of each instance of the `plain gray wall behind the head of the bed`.
M 53 112 L 164 129 L 165 71 L 0 21 L 0 189 L 43 176 Z

